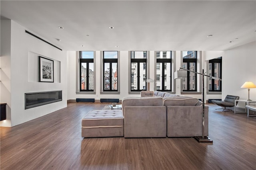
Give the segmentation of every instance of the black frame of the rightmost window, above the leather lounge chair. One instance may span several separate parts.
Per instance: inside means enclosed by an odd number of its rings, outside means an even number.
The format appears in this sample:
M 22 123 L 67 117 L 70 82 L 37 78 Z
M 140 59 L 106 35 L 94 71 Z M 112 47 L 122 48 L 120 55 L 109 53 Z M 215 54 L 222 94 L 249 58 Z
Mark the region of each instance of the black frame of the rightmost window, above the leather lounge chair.
M 211 73 L 209 73 L 209 75 L 211 74 L 211 75 L 214 75 L 214 69 L 215 69 L 215 64 L 216 63 L 220 63 L 220 77 L 217 77 L 217 78 L 222 78 L 222 57 L 219 57 L 219 58 L 217 58 L 217 59 L 212 59 L 212 60 L 209 60 L 209 64 L 212 64 L 212 72 Z M 209 66 L 209 64 L 208 64 L 208 66 Z M 212 89 L 210 90 L 210 89 L 208 89 L 208 91 L 209 92 L 222 92 L 222 82 L 221 81 L 219 81 L 219 88 L 220 88 L 220 90 L 214 90 L 214 79 L 213 78 L 209 78 L 209 81 L 212 81 Z M 208 84 L 209 85 L 209 84 Z

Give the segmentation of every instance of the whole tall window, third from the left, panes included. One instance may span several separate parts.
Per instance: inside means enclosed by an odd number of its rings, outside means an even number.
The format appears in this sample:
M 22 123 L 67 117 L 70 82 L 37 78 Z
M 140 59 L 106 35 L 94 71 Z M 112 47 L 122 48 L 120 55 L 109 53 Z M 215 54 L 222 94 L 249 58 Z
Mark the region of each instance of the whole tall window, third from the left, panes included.
M 146 90 L 147 51 L 131 51 L 131 92 Z

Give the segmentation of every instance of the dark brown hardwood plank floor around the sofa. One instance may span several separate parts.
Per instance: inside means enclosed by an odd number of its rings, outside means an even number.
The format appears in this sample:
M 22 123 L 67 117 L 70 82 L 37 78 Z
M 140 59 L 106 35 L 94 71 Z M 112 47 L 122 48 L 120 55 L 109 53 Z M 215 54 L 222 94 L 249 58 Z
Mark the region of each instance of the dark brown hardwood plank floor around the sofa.
M 255 170 L 256 118 L 209 106 L 209 137 L 82 138 L 82 117 L 108 103 L 67 108 L 1 127 L 1 170 Z

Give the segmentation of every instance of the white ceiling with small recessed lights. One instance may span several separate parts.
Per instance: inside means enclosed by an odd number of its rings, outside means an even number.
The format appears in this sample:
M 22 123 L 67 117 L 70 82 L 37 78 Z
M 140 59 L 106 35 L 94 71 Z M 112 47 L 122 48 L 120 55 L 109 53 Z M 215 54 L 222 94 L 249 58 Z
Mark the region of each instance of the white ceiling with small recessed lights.
M 0 7 L 1 19 L 65 51 L 215 51 L 256 41 L 255 0 L 1 0 Z

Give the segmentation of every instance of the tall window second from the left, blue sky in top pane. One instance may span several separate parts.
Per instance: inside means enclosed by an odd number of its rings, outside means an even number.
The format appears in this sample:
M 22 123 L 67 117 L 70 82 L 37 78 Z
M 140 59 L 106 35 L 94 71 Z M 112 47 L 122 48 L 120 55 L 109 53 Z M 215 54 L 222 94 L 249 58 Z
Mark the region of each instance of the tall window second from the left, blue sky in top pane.
M 103 51 L 103 91 L 118 91 L 118 51 Z

